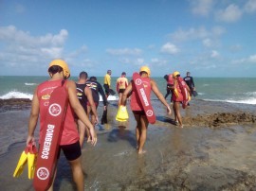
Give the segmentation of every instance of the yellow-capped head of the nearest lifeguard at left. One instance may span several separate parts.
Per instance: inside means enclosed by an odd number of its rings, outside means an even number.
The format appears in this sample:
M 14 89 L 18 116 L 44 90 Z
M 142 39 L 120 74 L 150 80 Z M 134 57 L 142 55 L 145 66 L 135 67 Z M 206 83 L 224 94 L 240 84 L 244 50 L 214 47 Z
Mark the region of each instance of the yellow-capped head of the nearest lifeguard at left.
M 64 78 L 70 77 L 70 71 L 69 71 L 67 63 L 65 61 L 59 60 L 59 59 L 53 60 L 49 63 L 48 73 L 49 73 L 50 77 L 52 77 L 56 73 L 63 73 Z

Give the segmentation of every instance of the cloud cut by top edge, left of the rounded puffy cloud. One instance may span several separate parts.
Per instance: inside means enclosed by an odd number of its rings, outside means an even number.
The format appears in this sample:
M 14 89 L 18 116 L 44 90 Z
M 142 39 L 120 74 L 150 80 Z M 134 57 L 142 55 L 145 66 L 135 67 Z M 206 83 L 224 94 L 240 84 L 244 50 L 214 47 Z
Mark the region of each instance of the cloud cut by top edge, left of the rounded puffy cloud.
M 212 10 L 213 0 L 192 0 L 192 13 L 208 16 Z

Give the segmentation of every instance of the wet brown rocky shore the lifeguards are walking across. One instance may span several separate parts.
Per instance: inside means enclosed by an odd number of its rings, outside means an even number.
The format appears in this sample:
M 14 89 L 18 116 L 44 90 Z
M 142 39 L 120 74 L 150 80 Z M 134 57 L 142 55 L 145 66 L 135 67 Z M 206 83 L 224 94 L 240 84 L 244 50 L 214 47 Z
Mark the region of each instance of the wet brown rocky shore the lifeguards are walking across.
M 27 138 L 27 103 L 18 109 L 5 104 L 0 113 L 1 189 L 33 190 L 27 169 L 12 178 Z M 255 106 L 192 100 L 182 110 L 185 126 L 179 129 L 158 101 L 153 105 L 156 123 L 149 126 L 143 155 L 136 152 L 133 114 L 119 123 L 117 103 L 109 105 L 108 124 L 96 127 L 97 146 L 84 143 L 82 148 L 85 190 L 256 190 Z M 74 189 L 63 155 L 54 188 Z

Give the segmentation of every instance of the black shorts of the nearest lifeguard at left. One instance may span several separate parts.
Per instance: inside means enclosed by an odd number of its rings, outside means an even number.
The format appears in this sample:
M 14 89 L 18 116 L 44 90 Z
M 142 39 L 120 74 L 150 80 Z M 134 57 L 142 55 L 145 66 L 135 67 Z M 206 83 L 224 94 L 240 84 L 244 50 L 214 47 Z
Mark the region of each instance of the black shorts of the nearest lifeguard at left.
M 81 147 L 79 141 L 74 144 L 60 146 L 64 151 L 64 156 L 67 161 L 74 161 L 81 156 Z M 60 149 L 61 151 L 61 149 Z M 60 153 L 59 153 L 60 155 Z M 58 156 L 59 158 L 59 156 Z

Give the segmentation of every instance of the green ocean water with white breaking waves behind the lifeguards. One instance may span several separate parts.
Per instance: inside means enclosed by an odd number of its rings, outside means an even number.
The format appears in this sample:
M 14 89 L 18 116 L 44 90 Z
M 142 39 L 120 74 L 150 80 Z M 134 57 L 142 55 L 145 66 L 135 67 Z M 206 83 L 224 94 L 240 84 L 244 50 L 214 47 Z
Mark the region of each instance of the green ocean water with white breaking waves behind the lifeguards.
M 32 98 L 35 87 L 48 77 L 0 77 L 0 99 Z M 71 78 L 77 80 L 76 77 Z M 129 78 L 130 79 L 130 78 Z M 166 81 L 154 78 L 159 90 L 165 96 Z M 112 77 L 112 87 L 116 88 L 117 77 Z M 103 84 L 103 77 L 98 77 Z M 194 78 L 196 99 L 230 103 L 256 104 L 256 78 Z M 155 99 L 153 94 L 152 99 Z M 169 96 L 170 98 L 170 96 Z M 109 96 L 108 100 L 118 100 L 118 95 Z

